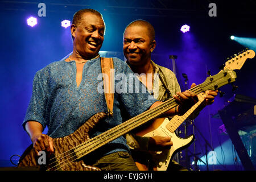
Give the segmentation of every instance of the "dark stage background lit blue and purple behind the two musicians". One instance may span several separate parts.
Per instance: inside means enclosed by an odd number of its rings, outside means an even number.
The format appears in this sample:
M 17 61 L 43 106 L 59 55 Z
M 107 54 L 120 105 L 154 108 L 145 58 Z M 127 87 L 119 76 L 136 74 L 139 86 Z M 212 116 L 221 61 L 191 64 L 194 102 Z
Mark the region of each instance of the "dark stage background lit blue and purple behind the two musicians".
M 46 4 L 45 17 L 38 16 L 38 4 L 41 2 Z M 208 15 L 211 2 L 217 5 L 215 17 Z M 31 97 L 32 80 L 36 71 L 72 51 L 70 29 L 61 27 L 60 22 L 64 19 L 72 20 L 73 14 L 79 9 L 91 8 L 102 13 L 106 33 L 101 53 L 122 60 L 122 35 L 125 27 L 135 19 L 148 20 L 155 27 L 156 33 L 152 60 L 172 70 L 169 56 L 176 55 L 177 79 L 183 91 L 185 82 L 181 73 L 187 74 L 190 88 L 192 82 L 201 84 L 208 77 L 209 69 L 212 75 L 218 73 L 218 67 L 225 63 L 226 57 L 246 47 L 256 51 L 255 1 L 1 1 L 0 6 L 0 167 L 13 166 L 10 157 L 14 154 L 22 155 L 31 143 L 22 128 L 22 122 Z M 38 19 L 35 27 L 27 26 L 26 20 L 31 15 Z M 183 24 L 191 28 L 185 34 L 180 31 Z M 254 42 L 243 46 L 230 40 L 230 35 L 251 38 Z M 214 104 L 205 107 L 192 122 L 196 127 L 196 140 L 188 148 L 188 155 L 197 154 L 205 162 L 207 140 L 217 157 L 214 162 L 208 156 L 209 170 L 244 170 L 229 135 L 220 132 L 223 121 L 212 116 L 234 94 L 256 98 L 255 66 L 255 58 L 246 60 L 242 69 L 236 71 L 235 84 L 238 90 L 232 92 L 232 85 L 223 86 L 221 90 L 225 96 L 217 96 Z M 193 134 L 193 125 L 189 123 L 187 130 L 187 134 Z M 180 135 L 183 135 L 184 125 L 181 125 L 180 131 Z M 241 138 L 252 159 L 256 144 L 250 143 L 251 134 L 243 133 Z M 212 149 L 208 146 L 207 150 Z M 182 151 L 180 163 L 187 165 L 188 162 L 189 166 L 186 167 L 196 170 L 193 156 L 184 160 L 184 154 L 185 150 Z M 13 159 L 15 161 L 18 158 L 15 156 Z M 253 163 L 255 166 L 255 161 Z M 201 171 L 207 170 L 202 162 L 197 164 Z

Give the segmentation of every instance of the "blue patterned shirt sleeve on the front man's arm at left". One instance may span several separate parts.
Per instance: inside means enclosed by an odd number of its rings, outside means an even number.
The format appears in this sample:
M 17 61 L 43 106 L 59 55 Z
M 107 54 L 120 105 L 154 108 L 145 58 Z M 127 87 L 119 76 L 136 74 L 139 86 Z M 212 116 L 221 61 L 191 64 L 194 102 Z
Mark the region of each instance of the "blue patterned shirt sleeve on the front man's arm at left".
M 43 128 L 46 127 L 46 103 L 47 103 L 47 92 L 46 92 L 46 77 L 41 74 L 42 72 L 36 72 L 32 85 L 32 96 L 30 103 L 27 108 L 27 112 L 22 123 L 23 129 L 27 121 L 37 121 L 41 123 Z

